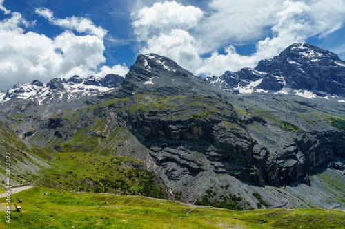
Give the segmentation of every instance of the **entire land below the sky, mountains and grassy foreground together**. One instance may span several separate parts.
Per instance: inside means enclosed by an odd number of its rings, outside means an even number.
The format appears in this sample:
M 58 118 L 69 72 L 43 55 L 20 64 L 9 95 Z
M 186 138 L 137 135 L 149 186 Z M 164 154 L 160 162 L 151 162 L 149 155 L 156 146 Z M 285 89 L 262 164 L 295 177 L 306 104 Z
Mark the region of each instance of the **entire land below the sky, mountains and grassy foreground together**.
M 147 54 L 124 79 L 16 85 L 0 96 L 1 158 L 12 157 L 12 186 L 36 187 L 23 191 L 28 210 L 14 219 L 57 228 L 339 228 L 339 63 L 331 52 L 294 44 L 255 69 L 216 79 Z

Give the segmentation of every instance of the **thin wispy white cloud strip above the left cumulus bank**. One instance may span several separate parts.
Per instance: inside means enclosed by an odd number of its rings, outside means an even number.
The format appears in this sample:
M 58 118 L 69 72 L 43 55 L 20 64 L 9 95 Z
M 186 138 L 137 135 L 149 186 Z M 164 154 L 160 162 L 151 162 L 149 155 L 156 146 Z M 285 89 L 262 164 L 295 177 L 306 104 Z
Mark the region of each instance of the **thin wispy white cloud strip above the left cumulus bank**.
M 90 19 L 83 17 L 72 16 L 66 17 L 66 19 L 55 19 L 54 14 L 47 8 L 37 8 L 35 12 L 48 19 L 52 25 L 58 25 L 68 30 L 75 30 L 79 33 L 95 35 L 100 39 L 103 39 L 108 32 L 101 27 L 97 27 Z

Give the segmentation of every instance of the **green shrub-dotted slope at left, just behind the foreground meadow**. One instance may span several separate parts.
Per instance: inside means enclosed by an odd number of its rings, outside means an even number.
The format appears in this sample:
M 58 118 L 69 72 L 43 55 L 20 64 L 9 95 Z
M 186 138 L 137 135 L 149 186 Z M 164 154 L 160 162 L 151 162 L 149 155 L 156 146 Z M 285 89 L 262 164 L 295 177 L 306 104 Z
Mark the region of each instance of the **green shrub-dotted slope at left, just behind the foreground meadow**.
M 38 185 L 62 190 L 118 193 L 165 198 L 160 180 L 141 161 L 94 153 L 56 153 Z M 135 169 L 137 168 L 137 169 Z

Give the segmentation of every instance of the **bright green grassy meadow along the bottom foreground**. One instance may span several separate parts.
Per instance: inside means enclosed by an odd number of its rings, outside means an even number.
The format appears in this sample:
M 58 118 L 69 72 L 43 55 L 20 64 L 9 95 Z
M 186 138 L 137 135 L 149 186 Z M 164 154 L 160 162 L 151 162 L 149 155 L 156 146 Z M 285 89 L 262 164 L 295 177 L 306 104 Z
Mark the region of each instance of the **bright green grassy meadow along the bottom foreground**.
M 17 197 L 23 199 L 22 210 L 12 211 L 7 228 L 345 228 L 345 212 L 339 210 L 235 212 L 147 197 L 59 193 L 39 187 L 12 195 L 12 199 Z M 7 224 L 4 215 L 0 212 L 0 228 Z

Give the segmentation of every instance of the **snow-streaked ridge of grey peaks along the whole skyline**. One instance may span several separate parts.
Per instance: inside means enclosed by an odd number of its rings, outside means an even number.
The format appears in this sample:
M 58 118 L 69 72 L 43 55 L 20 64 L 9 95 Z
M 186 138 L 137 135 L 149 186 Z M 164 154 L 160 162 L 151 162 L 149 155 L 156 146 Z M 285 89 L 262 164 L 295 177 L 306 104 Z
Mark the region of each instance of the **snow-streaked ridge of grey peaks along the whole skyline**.
M 205 87 L 205 83 L 233 94 L 279 93 L 304 98 L 345 96 L 345 62 L 333 52 L 306 43 L 295 43 L 278 56 L 259 61 L 255 68 L 244 67 L 238 72 L 226 71 L 221 76 L 198 77 L 183 69 L 170 58 L 157 54 L 139 55 L 125 78 L 108 74 L 104 78 L 89 76 L 52 79 L 43 84 L 17 84 L 0 92 L 0 104 L 11 99 L 33 100 L 39 105 L 51 91 L 70 94 L 66 102 L 83 96 L 110 93 L 110 97 L 124 98 L 144 92 L 157 91 L 167 95 L 217 95 L 219 91 Z M 122 86 L 115 89 L 119 83 Z M 115 91 L 111 91 L 115 89 Z M 49 94 L 50 93 L 50 94 Z M 50 96 L 54 97 L 54 96 Z M 59 98 L 56 98 L 59 102 Z M 339 100 L 344 101 L 344 100 Z M 85 102 L 85 101 L 83 101 Z

